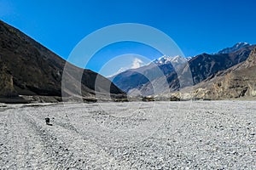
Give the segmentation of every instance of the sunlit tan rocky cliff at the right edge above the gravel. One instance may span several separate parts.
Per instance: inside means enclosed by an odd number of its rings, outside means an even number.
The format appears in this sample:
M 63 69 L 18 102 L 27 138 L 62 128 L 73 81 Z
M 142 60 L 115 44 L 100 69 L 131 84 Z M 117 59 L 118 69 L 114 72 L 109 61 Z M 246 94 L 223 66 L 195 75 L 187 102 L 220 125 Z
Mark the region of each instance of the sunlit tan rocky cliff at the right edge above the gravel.
M 256 97 L 256 48 L 246 61 L 201 82 L 192 93 L 195 99 L 235 99 Z

